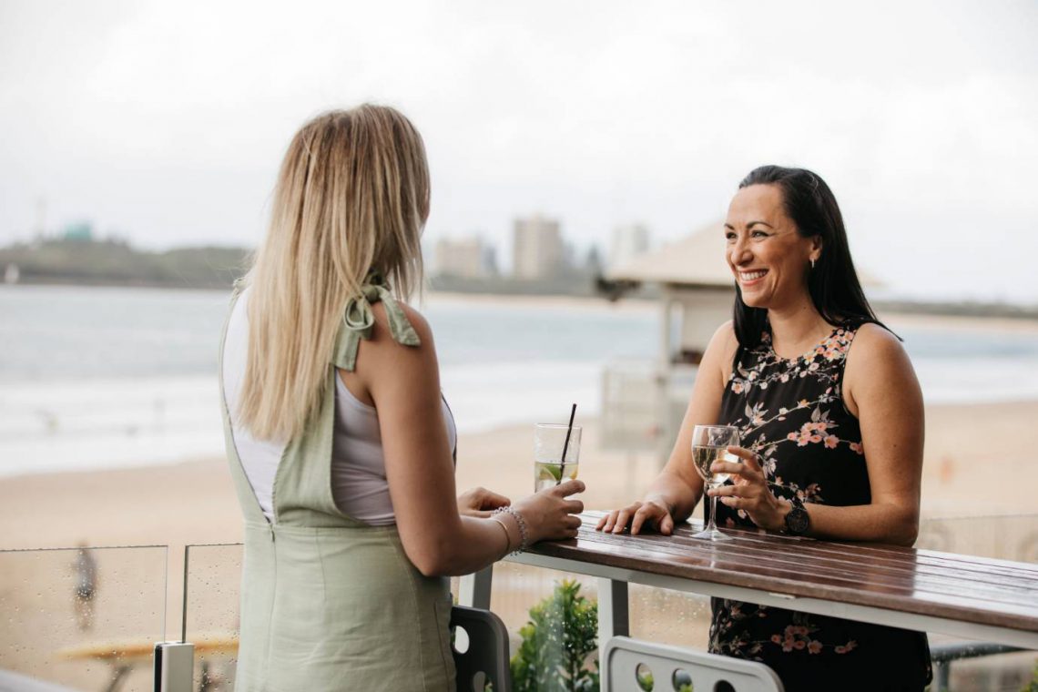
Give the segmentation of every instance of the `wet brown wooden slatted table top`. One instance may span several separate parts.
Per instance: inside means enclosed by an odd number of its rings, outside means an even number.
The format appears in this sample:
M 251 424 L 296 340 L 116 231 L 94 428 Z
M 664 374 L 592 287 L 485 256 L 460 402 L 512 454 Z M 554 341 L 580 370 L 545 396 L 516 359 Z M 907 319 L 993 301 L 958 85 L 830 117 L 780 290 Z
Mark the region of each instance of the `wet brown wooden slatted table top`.
M 771 593 L 813 598 L 1038 632 L 1038 565 L 881 544 L 732 530 L 732 541 L 602 533 L 605 513 L 581 515 L 575 539 L 528 552 Z M 793 604 L 790 604 L 794 607 Z

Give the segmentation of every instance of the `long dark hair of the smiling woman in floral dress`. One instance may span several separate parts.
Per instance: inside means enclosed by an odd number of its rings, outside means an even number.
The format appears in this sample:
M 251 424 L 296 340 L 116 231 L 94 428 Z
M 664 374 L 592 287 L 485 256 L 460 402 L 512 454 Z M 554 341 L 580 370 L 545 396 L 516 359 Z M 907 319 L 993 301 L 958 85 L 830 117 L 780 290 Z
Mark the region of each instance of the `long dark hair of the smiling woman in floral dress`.
M 803 238 L 822 238 L 822 254 L 808 275 L 808 292 L 815 309 L 830 325 L 856 329 L 874 322 L 884 329 L 857 280 L 850 258 L 847 229 L 837 198 L 816 173 L 803 168 L 761 166 L 742 178 L 739 189 L 752 185 L 773 185 L 782 192 L 786 216 L 792 219 L 796 231 Z M 768 311 L 749 307 L 742 302 L 742 292 L 735 284 L 735 335 L 739 344 L 753 349 L 761 341 L 767 325 Z

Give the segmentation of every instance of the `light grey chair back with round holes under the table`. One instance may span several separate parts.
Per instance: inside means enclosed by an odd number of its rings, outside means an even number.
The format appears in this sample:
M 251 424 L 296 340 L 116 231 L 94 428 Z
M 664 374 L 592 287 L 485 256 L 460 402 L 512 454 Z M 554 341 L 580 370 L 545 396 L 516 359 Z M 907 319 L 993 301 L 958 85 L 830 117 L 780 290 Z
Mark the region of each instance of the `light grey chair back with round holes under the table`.
M 613 637 L 603 657 L 602 692 L 643 692 L 648 675 L 653 692 L 783 692 L 771 668 L 728 656 Z

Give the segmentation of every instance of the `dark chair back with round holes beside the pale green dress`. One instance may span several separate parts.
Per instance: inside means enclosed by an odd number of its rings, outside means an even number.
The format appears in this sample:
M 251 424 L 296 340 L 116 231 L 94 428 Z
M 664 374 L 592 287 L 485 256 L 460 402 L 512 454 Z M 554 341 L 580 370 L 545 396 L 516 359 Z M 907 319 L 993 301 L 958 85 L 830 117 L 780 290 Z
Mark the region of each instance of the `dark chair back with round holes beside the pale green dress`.
M 484 692 L 488 683 L 494 692 L 512 692 L 509 631 L 501 618 L 489 610 L 455 606 L 450 631 L 455 637 L 458 692 Z

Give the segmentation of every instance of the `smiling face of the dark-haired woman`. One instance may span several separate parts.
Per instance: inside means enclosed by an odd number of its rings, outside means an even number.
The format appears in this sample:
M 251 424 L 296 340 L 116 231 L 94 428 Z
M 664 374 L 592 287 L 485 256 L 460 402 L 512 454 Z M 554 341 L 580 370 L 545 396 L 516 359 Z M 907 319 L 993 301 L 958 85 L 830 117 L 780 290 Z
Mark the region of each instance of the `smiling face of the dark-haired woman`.
M 797 232 L 777 186 L 739 190 L 728 207 L 725 238 L 726 259 L 746 305 L 775 309 L 811 300 L 808 272 L 821 254 L 821 238 Z

